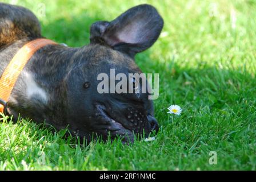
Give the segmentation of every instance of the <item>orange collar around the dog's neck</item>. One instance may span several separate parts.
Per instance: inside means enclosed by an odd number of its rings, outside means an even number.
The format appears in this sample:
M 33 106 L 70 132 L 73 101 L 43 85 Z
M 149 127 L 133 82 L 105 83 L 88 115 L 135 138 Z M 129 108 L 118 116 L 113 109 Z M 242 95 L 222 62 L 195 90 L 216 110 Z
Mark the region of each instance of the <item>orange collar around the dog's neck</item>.
M 7 65 L 5 71 L 0 78 L 0 112 L 6 114 L 6 103 L 9 100 L 11 91 L 14 88 L 15 82 L 19 74 L 22 72 L 26 63 L 31 56 L 39 49 L 49 44 L 57 44 L 49 39 L 35 39 L 25 44 L 15 54 L 13 59 Z

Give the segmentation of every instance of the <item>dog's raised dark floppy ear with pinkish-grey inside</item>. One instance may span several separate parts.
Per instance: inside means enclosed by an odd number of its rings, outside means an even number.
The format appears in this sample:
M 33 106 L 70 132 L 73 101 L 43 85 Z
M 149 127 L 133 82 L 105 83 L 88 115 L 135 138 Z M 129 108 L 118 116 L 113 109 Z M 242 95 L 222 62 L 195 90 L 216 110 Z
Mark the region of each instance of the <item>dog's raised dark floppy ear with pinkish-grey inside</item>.
M 163 19 L 150 5 L 135 6 L 112 22 L 91 25 L 90 42 L 106 44 L 130 56 L 151 47 L 163 28 Z

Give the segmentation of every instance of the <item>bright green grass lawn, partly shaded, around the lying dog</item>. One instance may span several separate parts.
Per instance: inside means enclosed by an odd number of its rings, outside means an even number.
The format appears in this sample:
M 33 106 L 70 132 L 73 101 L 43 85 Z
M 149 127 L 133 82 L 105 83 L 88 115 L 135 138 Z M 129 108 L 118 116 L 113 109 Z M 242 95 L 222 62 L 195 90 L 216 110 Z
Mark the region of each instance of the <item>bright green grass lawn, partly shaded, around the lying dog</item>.
M 140 3 L 157 7 L 161 37 L 136 57 L 159 73 L 154 101 L 161 130 L 152 142 L 78 145 L 29 121 L 0 123 L 0 169 L 256 169 L 256 1 L 17 1 L 42 23 L 43 35 L 69 46 L 89 43 L 90 24 Z M 183 113 L 171 118 L 167 106 Z M 218 154 L 209 164 L 209 152 Z M 45 160 L 45 164 L 42 161 Z

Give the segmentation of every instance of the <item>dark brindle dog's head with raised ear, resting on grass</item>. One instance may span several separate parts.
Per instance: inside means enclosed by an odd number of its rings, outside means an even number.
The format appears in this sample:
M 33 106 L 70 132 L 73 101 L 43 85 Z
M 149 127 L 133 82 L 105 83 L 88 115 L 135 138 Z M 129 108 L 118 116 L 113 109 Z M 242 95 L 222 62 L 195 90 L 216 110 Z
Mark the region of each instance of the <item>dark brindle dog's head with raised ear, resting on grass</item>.
M 147 136 L 158 130 L 149 90 L 136 92 L 142 90 L 142 79 L 130 78 L 129 73 L 142 73 L 134 56 L 153 45 L 162 27 L 161 16 L 150 5 L 133 7 L 111 22 L 91 26 L 90 45 L 74 55 L 76 66 L 65 78 L 71 131 L 89 140 L 94 133 L 103 139 L 110 134 L 133 141 L 133 133 Z M 127 93 L 117 91 L 124 89 L 118 80 L 125 78 L 111 76 L 110 69 L 127 78 Z

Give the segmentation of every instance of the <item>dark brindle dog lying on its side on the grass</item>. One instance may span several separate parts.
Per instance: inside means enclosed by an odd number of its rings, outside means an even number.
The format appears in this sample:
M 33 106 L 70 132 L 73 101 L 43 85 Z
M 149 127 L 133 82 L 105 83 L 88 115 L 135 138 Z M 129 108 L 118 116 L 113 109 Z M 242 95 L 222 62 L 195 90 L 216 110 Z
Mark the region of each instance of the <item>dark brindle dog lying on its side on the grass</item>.
M 19 76 L 7 112 L 18 118 L 46 121 L 56 129 L 91 140 L 111 134 L 133 141 L 133 132 L 146 136 L 158 130 L 149 93 L 97 92 L 99 73 L 141 73 L 135 54 L 157 40 L 163 20 L 150 5 L 127 10 L 111 22 L 95 22 L 90 44 L 79 48 L 49 45 L 39 49 Z M 42 38 L 38 19 L 31 11 L 0 3 L 0 74 L 25 43 Z M 130 82 L 129 84 L 139 84 Z

